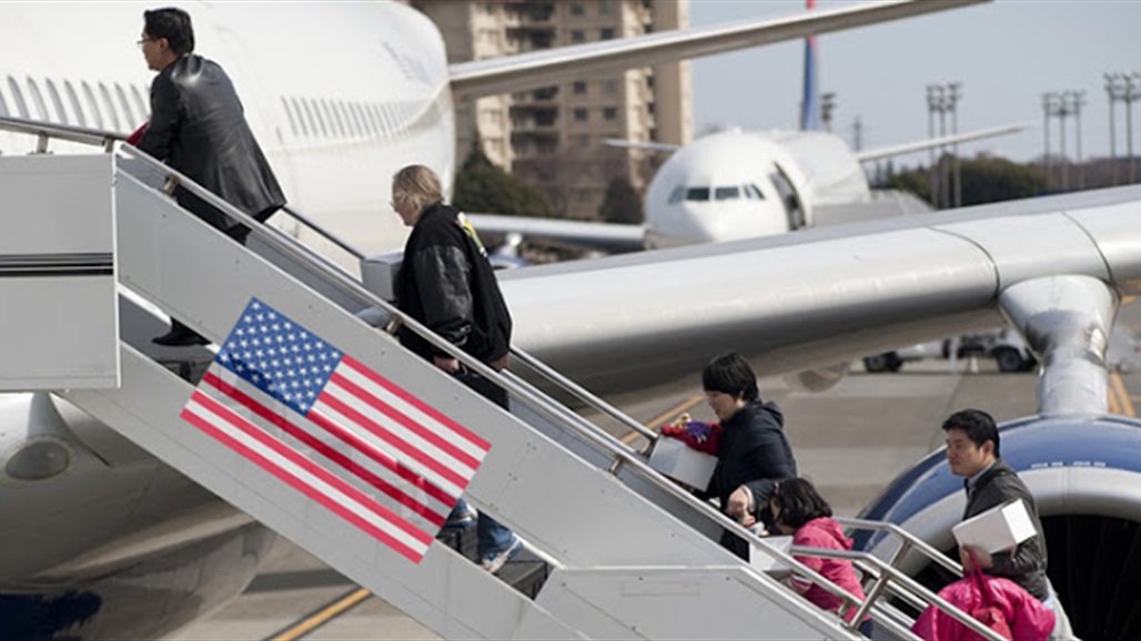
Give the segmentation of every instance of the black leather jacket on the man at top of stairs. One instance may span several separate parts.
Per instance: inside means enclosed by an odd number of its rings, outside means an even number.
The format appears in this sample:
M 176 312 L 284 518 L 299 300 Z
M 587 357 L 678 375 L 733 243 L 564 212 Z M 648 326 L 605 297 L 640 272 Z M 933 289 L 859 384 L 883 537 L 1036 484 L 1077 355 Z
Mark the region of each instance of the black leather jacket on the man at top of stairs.
M 138 147 L 258 220 L 285 203 L 229 76 L 201 56 L 187 54 L 155 76 L 151 122 Z M 185 189 L 175 195 L 218 229 L 235 225 Z

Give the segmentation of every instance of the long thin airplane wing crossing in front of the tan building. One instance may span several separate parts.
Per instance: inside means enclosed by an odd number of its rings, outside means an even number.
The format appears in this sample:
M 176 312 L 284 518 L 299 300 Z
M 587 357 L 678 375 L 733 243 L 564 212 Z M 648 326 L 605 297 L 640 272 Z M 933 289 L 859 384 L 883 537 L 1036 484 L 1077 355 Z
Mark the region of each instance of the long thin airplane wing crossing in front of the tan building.
M 853 29 L 942 11 L 989 0 L 889 0 L 817 9 L 784 18 L 650 33 L 633 38 L 558 47 L 529 54 L 450 65 L 452 91 L 477 98 L 545 87 L 591 74 L 622 72 L 734 51 L 807 35 Z

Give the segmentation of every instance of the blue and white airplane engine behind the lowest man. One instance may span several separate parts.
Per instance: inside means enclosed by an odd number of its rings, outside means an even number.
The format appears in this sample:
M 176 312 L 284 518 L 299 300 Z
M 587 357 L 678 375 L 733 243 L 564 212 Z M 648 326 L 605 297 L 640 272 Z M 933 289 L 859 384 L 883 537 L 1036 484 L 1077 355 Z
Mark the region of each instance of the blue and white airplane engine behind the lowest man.
M 1000 428 L 1000 451 L 1037 501 L 1049 575 L 1081 639 L 1141 639 L 1141 422 L 1122 416 L 1031 416 Z M 891 521 L 953 555 L 963 479 L 940 448 L 900 474 L 860 514 Z M 859 533 L 856 546 L 887 558 L 895 537 Z M 932 587 L 920 554 L 901 569 Z M 911 565 L 907 565 L 907 563 Z M 940 570 L 941 571 L 941 570 Z

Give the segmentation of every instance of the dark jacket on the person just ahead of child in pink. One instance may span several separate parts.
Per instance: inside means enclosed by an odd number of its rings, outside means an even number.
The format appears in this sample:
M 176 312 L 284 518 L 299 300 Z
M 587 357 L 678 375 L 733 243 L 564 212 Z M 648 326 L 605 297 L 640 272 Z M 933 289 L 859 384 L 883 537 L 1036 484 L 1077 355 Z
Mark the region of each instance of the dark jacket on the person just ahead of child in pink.
M 717 496 L 722 509 L 729 495 L 744 485 L 753 493 L 755 513 L 763 514 L 776 481 L 796 476 L 796 460 L 783 425 L 784 414 L 777 404 L 760 400 L 721 423 L 721 449 L 706 494 Z

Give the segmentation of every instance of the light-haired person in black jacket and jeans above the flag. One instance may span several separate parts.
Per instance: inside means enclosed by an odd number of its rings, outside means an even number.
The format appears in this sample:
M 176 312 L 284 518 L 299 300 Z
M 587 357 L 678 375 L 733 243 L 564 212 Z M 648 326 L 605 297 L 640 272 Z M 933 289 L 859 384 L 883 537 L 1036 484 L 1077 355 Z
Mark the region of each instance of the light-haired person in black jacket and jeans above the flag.
M 494 370 L 507 366 L 511 346 L 511 315 L 499 281 L 475 229 L 460 210 L 444 204 L 439 177 L 414 164 L 393 177 L 393 209 L 412 227 L 396 278 L 396 302 L 402 311 Z M 440 370 L 508 408 L 508 395 L 459 359 L 402 327 L 400 344 Z M 463 498 L 445 527 L 466 527 L 471 517 Z M 499 571 L 523 549 L 523 541 L 499 521 L 479 514 L 478 552 L 483 567 Z

